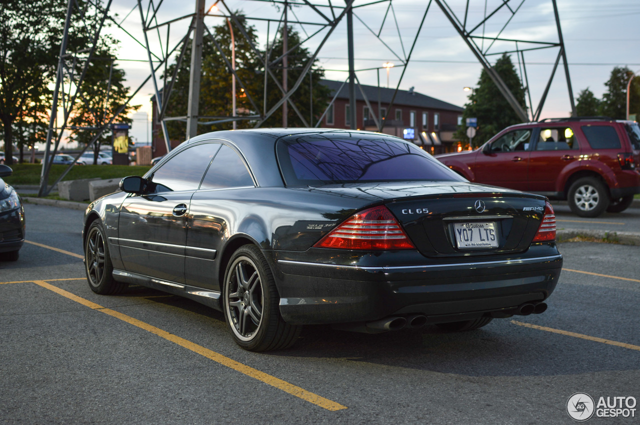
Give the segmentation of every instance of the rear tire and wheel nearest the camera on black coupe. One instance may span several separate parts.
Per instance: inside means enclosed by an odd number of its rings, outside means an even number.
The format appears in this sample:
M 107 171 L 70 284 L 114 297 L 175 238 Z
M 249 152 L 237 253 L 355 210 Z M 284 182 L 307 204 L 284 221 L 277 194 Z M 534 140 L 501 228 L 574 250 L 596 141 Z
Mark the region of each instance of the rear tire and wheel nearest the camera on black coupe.
M 278 290 L 262 252 L 255 245 L 237 249 L 223 285 L 225 320 L 236 343 L 252 352 L 291 347 L 302 327 L 286 323 L 278 304 Z

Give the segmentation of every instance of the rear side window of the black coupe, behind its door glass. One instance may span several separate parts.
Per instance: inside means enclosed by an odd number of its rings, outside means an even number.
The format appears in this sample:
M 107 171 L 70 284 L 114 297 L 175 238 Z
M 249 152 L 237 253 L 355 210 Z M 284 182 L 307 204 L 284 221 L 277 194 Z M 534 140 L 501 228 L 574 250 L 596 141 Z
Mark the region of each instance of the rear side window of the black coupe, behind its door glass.
M 223 145 L 213 158 L 200 189 L 225 189 L 253 186 L 253 179 L 241 157 L 227 145 Z

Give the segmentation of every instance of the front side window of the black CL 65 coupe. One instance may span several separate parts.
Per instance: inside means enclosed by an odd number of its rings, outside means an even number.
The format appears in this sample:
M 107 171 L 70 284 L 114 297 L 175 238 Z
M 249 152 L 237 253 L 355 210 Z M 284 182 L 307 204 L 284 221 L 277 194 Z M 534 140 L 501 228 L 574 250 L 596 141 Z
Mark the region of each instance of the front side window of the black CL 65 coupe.
M 148 192 L 196 190 L 220 143 L 196 144 L 175 155 L 157 169 Z

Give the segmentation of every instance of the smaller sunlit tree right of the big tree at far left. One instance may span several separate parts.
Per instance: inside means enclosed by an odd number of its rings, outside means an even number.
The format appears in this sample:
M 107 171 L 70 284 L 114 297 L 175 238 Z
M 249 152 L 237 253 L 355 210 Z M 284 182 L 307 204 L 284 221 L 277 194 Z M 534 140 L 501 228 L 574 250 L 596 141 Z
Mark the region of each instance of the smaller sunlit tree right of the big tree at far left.
M 71 139 L 78 144 L 89 144 L 99 128 L 111 120 L 113 114 L 129 97 L 129 87 L 124 85 L 125 72 L 114 65 L 116 57 L 113 50 L 117 45 L 116 40 L 103 36 L 99 43 L 78 90 L 76 104 L 69 120 L 70 125 L 74 127 L 88 127 L 72 130 Z M 78 66 L 78 72 L 81 72 L 82 65 Z M 127 115 L 140 109 L 140 106 L 127 105 L 113 122 L 131 124 L 132 119 Z M 100 144 L 111 144 L 110 129 L 104 130 L 93 144 L 94 165 L 97 164 Z

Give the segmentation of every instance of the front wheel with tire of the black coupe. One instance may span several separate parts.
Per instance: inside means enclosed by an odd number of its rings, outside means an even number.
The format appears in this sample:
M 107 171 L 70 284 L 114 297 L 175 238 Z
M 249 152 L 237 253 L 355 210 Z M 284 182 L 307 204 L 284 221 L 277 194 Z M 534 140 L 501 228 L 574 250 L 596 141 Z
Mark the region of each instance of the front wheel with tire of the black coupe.
M 100 220 L 95 220 L 86 232 L 84 271 L 89 288 L 100 295 L 115 295 L 124 291 L 127 283 L 113 279 L 113 264 L 109 245 Z

